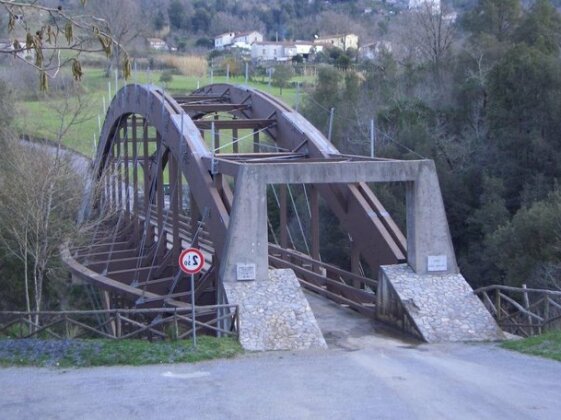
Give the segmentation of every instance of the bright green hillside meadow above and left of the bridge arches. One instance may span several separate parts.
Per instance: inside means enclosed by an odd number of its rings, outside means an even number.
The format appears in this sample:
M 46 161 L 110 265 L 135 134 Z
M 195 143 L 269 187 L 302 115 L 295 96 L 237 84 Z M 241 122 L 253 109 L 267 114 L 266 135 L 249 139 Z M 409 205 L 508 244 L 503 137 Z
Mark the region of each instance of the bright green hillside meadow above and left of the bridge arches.
M 153 83 L 162 86 L 159 82 L 161 72 L 136 72 L 132 75 L 129 83 Z M 302 80 L 300 80 L 302 79 Z M 310 82 L 310 77 L 305 80 L 295 78 L 294 80 Z M 88 104 L 83 116 L 85 120 L 79 125 L 71 127 L 62 142 L 71 149 L 77 150 L 85 155 L 91 156 L 94 149 L 94 135 L 99 135 L 98 116 L 103 124 L 105 117 L 103 112 L 103 98 L 106 105 L 109 105 L 108 83 L 111 82 L 111 93 L 115 93 L 115 79 L 104 76 L 103 69 L 86 68 L 82 81 L 83 98 L 82 101 Z M 243 77 L 226 79 L 224 76 L 214 77 L 214 83 L 243 84 Z M 122 87 L 123 80 L 119 80 L 119 87 Z M 185 94 L 193 91 L 197 86 L 205 86 L 211 83 L 208 77 L 197 78 L 195 76 L 174 75 L 173 80 L 165 86 L 165 89 L 172 95 Z M 268 86 L 262 81 L 250 81 L 249 86 L 267 92 L 289 106 L 294 106 L 297 101 L 298 93 L 295 88 L 283 89 L 282 96 L 278 87 Z M 72 99 L 71 101 L 75 101 Z M 61 109 L 64 100 L 57 97 L 54 92 L 48 94 L 40 100 L 25 100 L 18 103 L 20 116 L 16 120 L 19 132 L 39 138 L 57 140 L 57 133 L 61 120 Z M 68 115 L 68 113 L 67 113 Z

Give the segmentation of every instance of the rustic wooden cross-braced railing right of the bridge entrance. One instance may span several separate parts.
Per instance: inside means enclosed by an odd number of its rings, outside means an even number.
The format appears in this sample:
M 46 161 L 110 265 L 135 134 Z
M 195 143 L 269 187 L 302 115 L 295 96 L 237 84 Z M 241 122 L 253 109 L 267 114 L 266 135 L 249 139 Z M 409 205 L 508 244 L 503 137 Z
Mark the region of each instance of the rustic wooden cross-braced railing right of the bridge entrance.
M 561 291 L 492 285 L 474 293 L 511 334 L 529 337 L 561 328 Z

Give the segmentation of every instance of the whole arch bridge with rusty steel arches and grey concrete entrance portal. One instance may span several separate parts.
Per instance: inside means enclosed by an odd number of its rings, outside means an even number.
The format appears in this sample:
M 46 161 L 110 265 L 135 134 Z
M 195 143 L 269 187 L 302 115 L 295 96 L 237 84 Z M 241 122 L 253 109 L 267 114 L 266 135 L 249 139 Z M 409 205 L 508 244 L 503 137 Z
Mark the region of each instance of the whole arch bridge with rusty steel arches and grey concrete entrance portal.
M 178 97 L 152 85 L 123 87 L 107 111 L 94 178 L 101 192 L 88 192 L 82 218 L 111 220 L 63 258 L 111 304 L 189 306 L 192 293 L 213 304 L 223 282 L 240 279 L 241 264 L 257 281 L 268 267 L 291 268 L 303 286 L 373 315 L 380 266 L 408 262 L 426 273 L 427 256 L 439 255 L 445 272 L 457 272 L 431 161 L 343 155 L 300 114 L 246 86 Z M 366 183 L 393 181 L 406 184 L 407 239 Z M 292 206 L 296 188 L 306 199 L 304 222 Z M 275 218 L 267 217 L 267 195 Z M 350 239 L 350 271 L 322 261 L 320 203 Z M 186 246 L 207 260 L 193 291 L 178 267 Z

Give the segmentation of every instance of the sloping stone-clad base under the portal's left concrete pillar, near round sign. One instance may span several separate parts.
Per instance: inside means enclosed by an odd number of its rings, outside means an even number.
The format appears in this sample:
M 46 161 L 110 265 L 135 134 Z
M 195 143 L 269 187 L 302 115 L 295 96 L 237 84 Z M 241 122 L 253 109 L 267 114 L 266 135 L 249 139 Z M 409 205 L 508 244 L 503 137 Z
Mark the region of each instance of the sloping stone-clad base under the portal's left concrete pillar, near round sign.
M 269 270 L 268 280 L 224 282 L 228 303 L 240 308 L 246 350 L 327 348 L 292 270 Z

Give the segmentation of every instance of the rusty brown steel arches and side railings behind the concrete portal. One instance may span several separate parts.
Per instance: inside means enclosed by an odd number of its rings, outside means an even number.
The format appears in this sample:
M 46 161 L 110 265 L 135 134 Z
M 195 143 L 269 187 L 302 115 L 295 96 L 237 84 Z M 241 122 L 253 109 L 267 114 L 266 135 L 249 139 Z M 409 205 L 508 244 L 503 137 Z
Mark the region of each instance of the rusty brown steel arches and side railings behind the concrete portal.
M 220 153 L 221 130 L 231 132 L 233 139 L 241 130 L 250 131 L 253 153 L 240 153 L 235 141 L 232 153 Z M 212 147 L 203 133 L 211 134 Z M 263 153 L 260 135 L 283 152 Z M 215 301 L 235 196 L 231 182 L 213 170 L 217 156 L 260 162 L 292 159 L 303 165 L 350 159 L 299 113 L 255 89 L 215 84 L 174 98 L 152 85 L 127 85 L 111 102 L 100 135 L 93 172 L 97 179 L 106 179 L 104 196 L 96 201 L 90 194 L 84 206 L 98 212 L 103 206 L 116 208 L 119 218 L 112 223 L 117 226 L 89 245 L 65 250 L 72 273 L 113 293 L 115 304 L 184 306 L 193 291 L 178 282 L 177 257 L 185 244 L 196 241 L 206 247 L 211 263 L 202 275 L 201 290 L 194 292 L 206 294 L 203 302 Z M 166 176 L 175 185 L 167 205 Z M 185 184 L 189 200 L 183 197 Z M 363 260 L 377 274 L 380 265 L 406 260 L 403 234 L 366 183 L 314 188 L 352 237 L 356 261 Z M 306 286 L 373 314 L 375 279 L 322 263 L 319 232 L 314 235 L 312 255 L 287 249 L 285 241 L 280 252 L 278 246 L 270 247 L 270 263 L 301 268 L 298 274 Z

